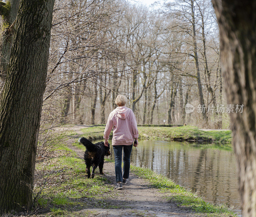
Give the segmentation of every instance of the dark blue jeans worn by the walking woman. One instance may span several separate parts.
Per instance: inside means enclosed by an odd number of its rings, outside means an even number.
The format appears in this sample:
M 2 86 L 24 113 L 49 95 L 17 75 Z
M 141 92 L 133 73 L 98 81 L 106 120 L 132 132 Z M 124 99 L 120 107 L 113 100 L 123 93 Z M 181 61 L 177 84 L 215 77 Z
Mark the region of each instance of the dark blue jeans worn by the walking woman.
M 124 173 L 122 176 L 122 150 L 124 148 Z M 116 182 L 122 182 L 123 178 L 129 178 L 130 173 L 130 156 L 132 145 L 113 145 L 115 154 L 115 172 Z

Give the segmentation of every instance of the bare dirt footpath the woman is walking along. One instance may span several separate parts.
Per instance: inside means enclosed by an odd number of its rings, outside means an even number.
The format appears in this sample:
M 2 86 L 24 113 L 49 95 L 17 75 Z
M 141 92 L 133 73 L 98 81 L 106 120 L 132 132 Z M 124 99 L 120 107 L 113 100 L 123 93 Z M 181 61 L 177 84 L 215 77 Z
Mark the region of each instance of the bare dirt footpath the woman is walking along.
M 76 130 L 78 134 L 80 134 L 80 129 L 77 128 Z M 79 158 L 83 159 L 84 152 L 72 145 L 74 137 L 77 138 L 79 135 L 73 136 L 73 138 L 68 140 L 68 147 L 74 150 Z M 103 171 L 105 176 L 114 186 L 116 184 L 114 163 L 105 162 Z M 174 203 L 167 201 L 165 199 L 166 194 L 159 192 L 158 189 L 152 187 L 148 181 L 140 179 L 132 173 L 130 174 L 128 183 L 123 186 L 123 190 L 116 190 L 116 198 L 109 199 L 112 204 L 121 208 L 87 208 L 78 211 L 77 215 L 96 217 L 195 216 L 191 209 L 177 207 Z

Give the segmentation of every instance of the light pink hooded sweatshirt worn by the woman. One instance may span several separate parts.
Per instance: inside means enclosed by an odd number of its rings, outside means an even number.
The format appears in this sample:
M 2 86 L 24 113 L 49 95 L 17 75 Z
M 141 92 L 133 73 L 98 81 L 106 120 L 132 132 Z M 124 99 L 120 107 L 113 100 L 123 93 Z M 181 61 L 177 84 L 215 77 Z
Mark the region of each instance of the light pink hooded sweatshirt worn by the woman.
M 109 139 L 112 128 L 112 145 L 132 145 L 134 139 L 138 140 L 137 121 L 130 108 L 118 106 L 110 112 L 103 136 L 105 140 Z

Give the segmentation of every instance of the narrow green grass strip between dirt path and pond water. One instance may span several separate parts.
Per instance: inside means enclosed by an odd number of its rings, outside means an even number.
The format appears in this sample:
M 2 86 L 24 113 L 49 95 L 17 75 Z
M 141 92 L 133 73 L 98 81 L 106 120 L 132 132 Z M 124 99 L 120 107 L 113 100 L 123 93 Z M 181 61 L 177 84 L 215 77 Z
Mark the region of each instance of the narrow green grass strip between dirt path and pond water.
M 166 198 L 174 201 L 177 206 L 190 207 L 196 213 L 206 213 L 208 216 L 237 216 L 227 206 L 207 203 L 196 193 L 188 191 L 184 187 L 175 184 L 171 179 L 150 169 L 131 165 L 131 171 L 137 176 L 147 179 L 153 187 L 165 192 Z

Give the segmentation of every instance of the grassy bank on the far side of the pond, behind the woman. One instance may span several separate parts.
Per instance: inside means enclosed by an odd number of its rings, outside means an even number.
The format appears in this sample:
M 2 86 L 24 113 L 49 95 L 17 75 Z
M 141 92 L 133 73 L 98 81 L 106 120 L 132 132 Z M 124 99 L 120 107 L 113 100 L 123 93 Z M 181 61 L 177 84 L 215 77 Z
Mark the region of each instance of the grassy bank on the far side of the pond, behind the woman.
M 92 140 L 103 139 L 105 126 L 82 129 L 84 136 Z M 231 145 L 231 131 L 203 131 L 194 126 L 181 127 L 138 127 L 139 140 L 197 141 Z M 112 138 L 112 132 L 110 134 Z

